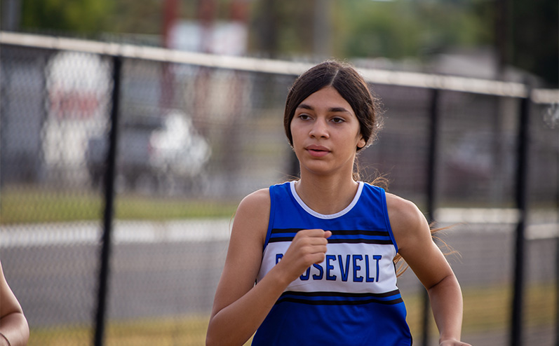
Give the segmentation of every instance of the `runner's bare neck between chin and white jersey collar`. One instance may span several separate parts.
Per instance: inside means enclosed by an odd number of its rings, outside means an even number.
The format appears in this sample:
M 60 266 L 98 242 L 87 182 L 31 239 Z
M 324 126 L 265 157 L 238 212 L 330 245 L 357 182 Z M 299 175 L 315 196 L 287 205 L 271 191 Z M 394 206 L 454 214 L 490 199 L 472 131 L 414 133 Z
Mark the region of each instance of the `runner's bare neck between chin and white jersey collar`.
M 320 214 L 335 214 L 345 209 L 355 198 L 358 183 L 347 175 L 344 177 L 307 177 L 301 172 L 295 191 L 303 202 Z

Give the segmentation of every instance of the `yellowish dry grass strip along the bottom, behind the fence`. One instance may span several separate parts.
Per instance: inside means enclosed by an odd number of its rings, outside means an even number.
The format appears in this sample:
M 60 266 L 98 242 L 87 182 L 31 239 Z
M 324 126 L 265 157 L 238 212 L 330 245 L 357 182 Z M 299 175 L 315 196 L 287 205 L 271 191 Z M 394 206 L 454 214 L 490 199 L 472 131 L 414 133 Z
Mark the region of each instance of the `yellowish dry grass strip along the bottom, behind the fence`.
M 495 331 L 506 333 L 510 316 L 509 287 L 464 289 L 464 334 Z M 421 331 L 422 295 L 405 296 L 408 324 L 415 339 Z M 553 326 L 555 316 L 553 284 L 530 286 L 526 290 L 525 328 Z M 208 316 L 162 318 L 141 321 L 112 321 L 107 325 L 107 346 L 204 345 Z M 435 324 L 432 335 L 437 335 Z M 33 329 L 29 346 L 90 345 L 93 331 L 86 326 Z

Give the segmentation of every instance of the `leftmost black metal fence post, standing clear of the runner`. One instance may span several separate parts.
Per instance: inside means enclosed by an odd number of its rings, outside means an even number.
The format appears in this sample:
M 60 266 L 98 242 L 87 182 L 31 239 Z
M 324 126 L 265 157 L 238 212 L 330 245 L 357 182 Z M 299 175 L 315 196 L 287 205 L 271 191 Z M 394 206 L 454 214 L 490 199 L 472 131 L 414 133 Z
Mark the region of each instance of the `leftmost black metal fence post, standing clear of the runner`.
M 122 58 L 113 57 L 113 91 L 111 109 L 111 129 L 109 131 L 109 151 L 107 153 L 107 171 L 105 172 L 105 214 L 103 217 L 102 249 L 100 258 L 99 288 L 97 295 L 97 314 L 95 316 L 94 345 L 103 345 L 105 334 L 105 312 L 109 282 L 109 258 L 111 253 L 111 236 L 114 211 L 114 176 L 116 173 L 116 149 L 119 139 L 119 101 L 121 85 Z

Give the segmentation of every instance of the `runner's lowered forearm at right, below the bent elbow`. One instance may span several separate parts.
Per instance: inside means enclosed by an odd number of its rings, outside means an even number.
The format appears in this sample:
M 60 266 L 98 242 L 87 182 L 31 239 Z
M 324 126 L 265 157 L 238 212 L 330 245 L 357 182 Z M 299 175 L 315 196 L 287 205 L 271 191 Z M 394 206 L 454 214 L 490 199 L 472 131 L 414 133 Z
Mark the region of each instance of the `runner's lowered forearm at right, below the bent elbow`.
M 433 309 L 438 331 L 439 342 L 444 340 L 460 340 L 462 333 L 463 302 L 462 291 L 458 280 L 448 275 L 438 284 L 429 289 L 429 299 Z

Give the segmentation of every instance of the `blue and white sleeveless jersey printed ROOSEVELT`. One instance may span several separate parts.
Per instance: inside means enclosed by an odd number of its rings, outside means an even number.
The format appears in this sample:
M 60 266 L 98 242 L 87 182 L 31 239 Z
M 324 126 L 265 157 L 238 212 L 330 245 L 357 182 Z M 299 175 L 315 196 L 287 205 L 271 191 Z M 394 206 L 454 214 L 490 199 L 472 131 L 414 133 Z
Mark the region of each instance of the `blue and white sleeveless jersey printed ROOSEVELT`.
M 295 182 L 269 188 L 268 232 L 257 283 L 276 265 L 298 230 L 332 231 L 325 260 L 311 265 L 285 289 L 252 345 L 412 344 L 406 310 L 396 286 L 394 240 L 384 190 L 359 182 L 346 209 L 314 212 Z

